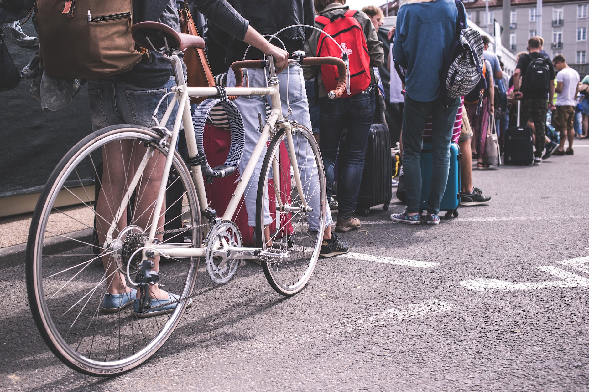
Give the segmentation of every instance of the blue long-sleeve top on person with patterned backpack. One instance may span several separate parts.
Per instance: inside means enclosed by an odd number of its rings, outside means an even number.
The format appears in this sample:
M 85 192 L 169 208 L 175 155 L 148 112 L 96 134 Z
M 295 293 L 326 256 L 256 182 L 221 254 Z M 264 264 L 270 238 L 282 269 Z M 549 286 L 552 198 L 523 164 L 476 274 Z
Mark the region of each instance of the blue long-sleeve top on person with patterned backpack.
M 466 21 L 466 10 L 461 5 Z M 395 61 L 406 69 L 406 95 L 419 102 L 438 98 L 446 58 L 456 40 L 454 0 L 405 3 L 395 29 Z

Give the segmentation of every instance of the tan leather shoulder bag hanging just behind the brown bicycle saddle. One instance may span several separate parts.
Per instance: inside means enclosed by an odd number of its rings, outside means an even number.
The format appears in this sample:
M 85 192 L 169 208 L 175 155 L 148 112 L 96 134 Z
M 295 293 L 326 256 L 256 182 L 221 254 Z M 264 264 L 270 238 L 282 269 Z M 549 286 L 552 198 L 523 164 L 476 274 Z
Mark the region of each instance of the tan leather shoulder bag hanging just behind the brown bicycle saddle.
M 196 25 L 190 10 L 184 3 L 183 9 L 178 9 L 180 15 L 180 32 L 184 34 L 198 35 Z M 213 72 L 207 59 L 204 49 L 188 48 L 184 51 L 184 64 L 186 64 L 186 73 L 188 74 L 188 86 L 190 87 L 213 87 L 215 81 Z M 190 98 L 191 104 L 199 104 L 207 97 Z

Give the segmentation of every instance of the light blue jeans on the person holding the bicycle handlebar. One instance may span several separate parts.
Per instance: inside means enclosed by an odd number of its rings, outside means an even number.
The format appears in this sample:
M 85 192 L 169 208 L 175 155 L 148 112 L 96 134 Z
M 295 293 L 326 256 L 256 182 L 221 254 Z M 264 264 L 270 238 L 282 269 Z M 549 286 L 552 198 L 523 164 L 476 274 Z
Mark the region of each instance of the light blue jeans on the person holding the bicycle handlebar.
M 247 74 L 249 77 L 250 87 L 262 87 L 266 85 L 266 78 L 264 77 L 263 69 L 249 68 L 247 69 Z M 290 108 L 292 109 L 292 115 L 289 116 L 289 119 L 296 120 L 299 122 L 299 124 L 305 125 L 305 127 L 309 128 L 310 130 L 312 128 L 311 120 L 309 118 L 309 103 L 307 102 L 307 94 L 305 89 L 305 82 L 303 80 L 302 68 L 299 66 L 289 67 L 288 78 L 289 85 L 287 89 L 287 71 L 285 70 L 278 74 L 283 115 L 286 116 L 288 114 L 288 109 L 286 106 L 286 99 L 288 98 Z M 235 86 L 235 75 L 231 69 L 229 70 L 229 75 L 227 76 L 227 86 Z M 272 102 L 270 96 L 259 97 L 256 95 L 251 95 L 250 97 L 239 97 L 233 102 L 241 112 L 241 117 L 243 117 L 243 125 L 246 131 L 243 156 L 241 157 L 241 163 L 239 164 L 239 171 L 243 173 L 247 162 L 249 162 L 249 159 L 252 156 L 254 147 L 256 147 L 256 143 L 260 138 L 260 133 L 257 131 L 257 128 L 259 127 L 257 114 L 264 114 L 266 112 L 266 105 L 264 102 L 268 102 L 269 104 Z M 300 135 L 293 135 L 293 142 L 295 146 L 308 146 L 306 139 Z M 317 230 L 317 228 L 319 228 L 319 211 L 322 200 L 319 195 L 319 176 L 317 176 L 317 174 L 313 174 L 314 160 L 310 159 L 309 155 L 307 155 L 309 152 L 309 148 L 303 148 L 302 150 L 296 151 L 296 157 L 299 164 L 301 182 L 303 183 L 303 186 L 308 187 L 307 190 L 305 190 L 305 194 L 312 194 L 309 200 L 307 200 L 309 206 L 313 207 L 313 211 L 307 214 L 309 229 Z M 262 156 L 256 164 L 252 178 L 250 178 L 250 182 L 247 184 L 243 195 L 244 200 L 246 201 L 248 218 L 247 224 L 250 226 L 256 225 L 256 195 L 259 180 L 258 174 L 262 171 L 262 163 L 265 155 L 266 150 L 264 149 L 264 152 L 262 152 Z M 264 225 L 270 224 L 270 222 L 272 222 L 272 218 L 270 218 L 268 211 L 268 205 L 264 205 Z M 328 206 L 325 227 L 331 223 L 331 211 L 329 210 Z

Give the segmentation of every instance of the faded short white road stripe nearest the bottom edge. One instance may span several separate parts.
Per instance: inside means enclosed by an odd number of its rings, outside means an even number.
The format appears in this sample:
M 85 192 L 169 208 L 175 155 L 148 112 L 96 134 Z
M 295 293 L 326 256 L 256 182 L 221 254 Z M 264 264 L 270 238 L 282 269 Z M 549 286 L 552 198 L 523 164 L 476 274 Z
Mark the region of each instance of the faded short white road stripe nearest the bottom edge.
M 442 301 L 426 301 L 418 304 L 387 309 L 368 317 L 362 317 L 360 320 L 358 320 L 356 326 L 373 327 L 375 325 L 386 325 L 394 323 L 395 321 L 409 320 L 411 318 L 420 317 L 426 314 L 442 313 L 453 309 L 454 307 L 449 306 Z

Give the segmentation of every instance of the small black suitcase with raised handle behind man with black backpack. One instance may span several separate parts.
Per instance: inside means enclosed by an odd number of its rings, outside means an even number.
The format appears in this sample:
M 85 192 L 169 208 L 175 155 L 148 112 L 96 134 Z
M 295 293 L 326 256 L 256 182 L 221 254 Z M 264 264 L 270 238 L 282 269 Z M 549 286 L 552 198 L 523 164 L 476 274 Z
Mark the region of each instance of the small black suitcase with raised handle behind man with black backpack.
M 507 128 L 504 136 L 503 161 L 505 165 L 531 165 L 534 163 L 534 144 L 532 129 L 521 127 L 519 111 L 521 101 L 517 101 L 517 125 Z M 527 119 L 526 119 L 527 120 Z

